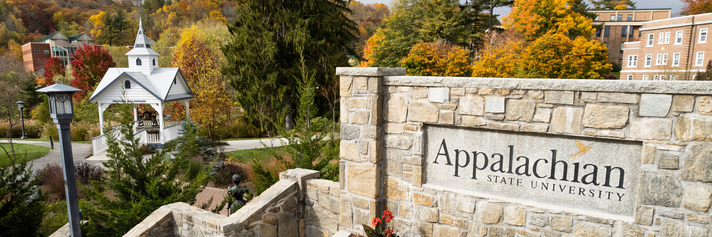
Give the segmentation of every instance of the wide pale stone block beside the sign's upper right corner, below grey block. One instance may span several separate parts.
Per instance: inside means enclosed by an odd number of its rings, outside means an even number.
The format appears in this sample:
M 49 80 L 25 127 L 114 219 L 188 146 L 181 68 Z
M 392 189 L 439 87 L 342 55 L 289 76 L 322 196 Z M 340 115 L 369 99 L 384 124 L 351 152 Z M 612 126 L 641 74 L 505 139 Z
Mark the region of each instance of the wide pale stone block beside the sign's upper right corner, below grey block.
M 672 135 L 672 120 L 639 118 L 630 122 L 630 138 L 667 140 Z

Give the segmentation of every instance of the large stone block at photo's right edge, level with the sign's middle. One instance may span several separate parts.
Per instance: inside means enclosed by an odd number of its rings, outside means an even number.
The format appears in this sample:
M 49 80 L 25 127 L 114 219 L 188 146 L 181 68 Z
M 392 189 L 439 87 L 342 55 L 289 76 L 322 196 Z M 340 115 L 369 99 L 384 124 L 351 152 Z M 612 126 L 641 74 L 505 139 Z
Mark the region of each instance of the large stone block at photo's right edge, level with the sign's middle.
M 690 144 L 684 154 L 685 161 L 680 179 L 687 181 L 712 181 L 712 144 Z

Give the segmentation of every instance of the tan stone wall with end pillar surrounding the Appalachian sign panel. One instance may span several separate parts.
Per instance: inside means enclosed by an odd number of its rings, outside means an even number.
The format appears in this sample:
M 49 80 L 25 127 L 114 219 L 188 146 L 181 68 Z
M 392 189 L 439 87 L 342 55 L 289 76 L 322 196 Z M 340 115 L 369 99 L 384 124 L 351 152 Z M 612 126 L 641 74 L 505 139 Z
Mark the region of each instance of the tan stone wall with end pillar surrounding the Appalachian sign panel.
M 404 73 L 337 68 L 339 229 L 363 234 L 360 224 L 388 209 L 401 236 L 711 236 L 712 83 Z M 639 141 L 635 214 L 504 201 L 427 184 L 427 125 Z

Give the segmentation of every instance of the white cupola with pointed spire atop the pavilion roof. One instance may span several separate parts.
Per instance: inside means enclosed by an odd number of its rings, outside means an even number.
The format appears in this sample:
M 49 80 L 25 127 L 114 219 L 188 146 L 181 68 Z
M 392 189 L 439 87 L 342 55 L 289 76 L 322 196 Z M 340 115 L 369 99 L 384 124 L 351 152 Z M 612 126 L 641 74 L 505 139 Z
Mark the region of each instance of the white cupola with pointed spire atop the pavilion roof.
M 148 38 L 146 38 L 146 32 L 143 31 L 142 21 L 139 20 L 134 48 L 126 53 L 126 56 L 129 57 L 129 68 L 131 68 L 132 71 L 150 75 L 155 68 L 158 68 L 158 55 L 159 54 L 151 48 Z

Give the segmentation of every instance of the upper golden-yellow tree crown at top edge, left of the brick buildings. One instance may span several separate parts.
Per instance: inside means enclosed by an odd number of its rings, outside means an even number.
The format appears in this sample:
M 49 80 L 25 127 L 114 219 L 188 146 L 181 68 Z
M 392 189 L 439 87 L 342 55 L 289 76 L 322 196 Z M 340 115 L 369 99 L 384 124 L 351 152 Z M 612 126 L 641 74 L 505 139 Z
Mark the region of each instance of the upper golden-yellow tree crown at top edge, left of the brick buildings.
M 563 33 L 570 38 L 590 37 L 593 20 L 572 11 L 575 0 L 516 0 L 502 26 L 523 33 L 529 41 L 545 33 Z

